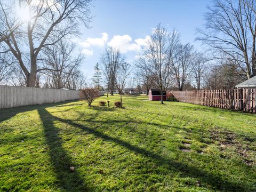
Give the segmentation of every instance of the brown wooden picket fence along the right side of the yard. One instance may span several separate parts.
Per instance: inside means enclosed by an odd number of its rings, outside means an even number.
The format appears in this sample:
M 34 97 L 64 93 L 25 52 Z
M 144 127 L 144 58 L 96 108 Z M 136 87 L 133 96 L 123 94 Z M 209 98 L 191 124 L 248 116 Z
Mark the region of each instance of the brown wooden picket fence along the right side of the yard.
M 171 91 L 171 93 L 180 102 L 255 113 L 256 89 Z

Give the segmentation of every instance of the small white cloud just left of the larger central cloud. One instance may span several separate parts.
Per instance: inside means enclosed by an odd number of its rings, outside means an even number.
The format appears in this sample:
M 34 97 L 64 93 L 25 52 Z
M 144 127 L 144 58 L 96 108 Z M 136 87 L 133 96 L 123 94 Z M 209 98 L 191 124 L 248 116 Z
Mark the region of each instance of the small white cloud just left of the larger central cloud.
M 98 46 L 103 47 L 108 40 L 108 34 L 107 33 L 101 33 L 101 37 L 99 38 L 87 38 L 84 42 L 80 42 L 79 44 L 85 48 L 91 47 L 91 46 Z

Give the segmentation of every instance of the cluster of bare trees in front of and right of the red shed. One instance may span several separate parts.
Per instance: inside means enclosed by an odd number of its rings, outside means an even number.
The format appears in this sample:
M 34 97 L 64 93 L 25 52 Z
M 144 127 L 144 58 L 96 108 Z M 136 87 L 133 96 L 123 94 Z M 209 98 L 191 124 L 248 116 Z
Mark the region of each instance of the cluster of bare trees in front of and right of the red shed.
M 163 103 L 163 93 L 167 89 L 177 87 L 182 91 L 189 78 L 200 89 L 207 61 L 193 45 L 182 44 L 177 31 L 169 32 L 159 24 L 148 38 L 135 66 L 147 91 L 151 87 L 158 89 Z

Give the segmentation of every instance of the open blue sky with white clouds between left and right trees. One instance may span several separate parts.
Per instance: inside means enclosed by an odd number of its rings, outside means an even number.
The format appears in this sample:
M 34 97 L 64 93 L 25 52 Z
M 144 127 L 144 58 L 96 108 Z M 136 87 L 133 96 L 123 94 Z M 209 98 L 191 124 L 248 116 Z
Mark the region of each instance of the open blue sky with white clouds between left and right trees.
M 192 43 L 202 50 L 195 42 L 196 28 L 203 26 L 210 0 L 98 0 L 93 4 L 91 29 L 82 27 L 83 35 L 76 39 L 86 58 L 81 68 L 88 80 L 107 46 L 121 49 L 126 61 L 132 63 L 143 39 L 159 22 L 169 30 L 178 30 L 182 43 Z

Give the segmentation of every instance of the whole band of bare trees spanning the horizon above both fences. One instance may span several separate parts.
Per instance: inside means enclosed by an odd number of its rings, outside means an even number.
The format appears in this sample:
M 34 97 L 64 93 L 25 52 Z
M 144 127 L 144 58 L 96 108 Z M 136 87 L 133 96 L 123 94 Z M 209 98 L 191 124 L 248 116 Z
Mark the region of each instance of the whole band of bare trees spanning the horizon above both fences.
M 18 2 L 18 4 L 17 4 Z M 91 83 L 81 72 L 84 56 L 70 37 L 79 26 L 90 30 L 91 0 L 0 2 L 0 84 L 67 89 L 108 87 L 110 94 L 125 87 L 148 92 L 167 89 L 232 89 L 256 75 L 256 6 L 254 0 L 217 0 L 197 29 L 199 52 L 182 44 L 175 29 L 159 23 L 133 63 L 108 47 L 94 67 Z M 14 6 L 15 5 L 15 6 Z M 22 21 L 18 9 L 28 9 Z M 135 84 L 135 85 L 134 85 Z

